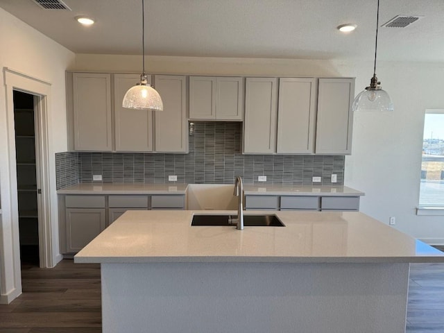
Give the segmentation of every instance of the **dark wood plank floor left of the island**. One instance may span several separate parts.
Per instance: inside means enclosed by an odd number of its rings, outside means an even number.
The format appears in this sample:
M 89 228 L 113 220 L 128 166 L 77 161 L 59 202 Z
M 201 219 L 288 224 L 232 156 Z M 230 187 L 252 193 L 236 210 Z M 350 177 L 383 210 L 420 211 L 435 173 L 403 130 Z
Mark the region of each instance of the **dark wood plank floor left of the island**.
M 99 264 L 22 265 L 23 293 L 0 305 L 0 333 L 99 333 Z

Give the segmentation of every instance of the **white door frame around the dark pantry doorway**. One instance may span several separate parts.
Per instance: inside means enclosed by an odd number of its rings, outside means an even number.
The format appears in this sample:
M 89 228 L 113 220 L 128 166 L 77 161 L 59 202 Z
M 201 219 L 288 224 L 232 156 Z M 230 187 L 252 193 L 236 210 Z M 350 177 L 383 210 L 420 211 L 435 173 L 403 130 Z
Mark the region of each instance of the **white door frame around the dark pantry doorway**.
M 15 153 L 15 121 L 13 91 L 18 90 L 34 95 L 36 141 L 40 160 L 39 194 L 39 255 L 40 267 L 53 267 L 51 182 L 49 161 L 49 110 L 51 110 L 51 83 L 28 74 L 3 67 L 6 88 L 6 135 L 7 164 L 1 178 L 1 223 L 0 233 L 0 304 L 8 304 L 22 293 L 22 272 L 20 265 L 19 210 L 17 198 L 17 159 Z M 37 154 L 37 150 L 36 150 Z M 36 159 L 37 160 L 37 159 Z

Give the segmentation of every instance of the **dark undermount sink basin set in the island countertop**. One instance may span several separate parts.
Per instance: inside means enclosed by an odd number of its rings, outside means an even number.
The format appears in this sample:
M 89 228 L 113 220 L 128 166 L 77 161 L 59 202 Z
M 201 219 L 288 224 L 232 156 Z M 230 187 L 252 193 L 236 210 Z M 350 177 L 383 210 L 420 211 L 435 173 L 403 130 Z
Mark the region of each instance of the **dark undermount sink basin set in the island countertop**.
M 236 225 L 231 223 L 237 216 L 194 214 L 191 225 Z M 275 215 L 244 215 L 246 227 L 284 227 L 284 223 Z

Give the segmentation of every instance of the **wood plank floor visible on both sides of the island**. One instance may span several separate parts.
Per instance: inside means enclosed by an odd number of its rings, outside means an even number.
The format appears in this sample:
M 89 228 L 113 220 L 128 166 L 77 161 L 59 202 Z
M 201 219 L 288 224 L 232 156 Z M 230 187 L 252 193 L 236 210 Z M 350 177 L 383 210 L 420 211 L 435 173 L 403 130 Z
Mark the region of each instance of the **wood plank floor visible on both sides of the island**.
M 22 283 L 22 295 L 0 305 L 0 333 L 101 332 L 99 265 L 24 265 Z M 406 332 L 444 332 L 444 264 L 411 264 Z

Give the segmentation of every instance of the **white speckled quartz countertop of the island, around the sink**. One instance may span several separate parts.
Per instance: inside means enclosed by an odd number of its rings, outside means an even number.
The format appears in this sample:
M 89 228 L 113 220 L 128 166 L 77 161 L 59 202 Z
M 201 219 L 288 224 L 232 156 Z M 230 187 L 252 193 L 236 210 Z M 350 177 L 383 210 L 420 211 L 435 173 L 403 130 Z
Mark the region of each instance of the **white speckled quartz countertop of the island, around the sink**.
M 75 257 L 83 263 L 444 262 L 444 253 L 360 212 L 273 212 L 285 227 L 191 226 L 193 214 L 128 211 Z M 270 214 L 271 212 L 248 212 Z M 246 213 L 247 214 L 247 213 Z

